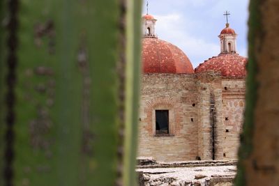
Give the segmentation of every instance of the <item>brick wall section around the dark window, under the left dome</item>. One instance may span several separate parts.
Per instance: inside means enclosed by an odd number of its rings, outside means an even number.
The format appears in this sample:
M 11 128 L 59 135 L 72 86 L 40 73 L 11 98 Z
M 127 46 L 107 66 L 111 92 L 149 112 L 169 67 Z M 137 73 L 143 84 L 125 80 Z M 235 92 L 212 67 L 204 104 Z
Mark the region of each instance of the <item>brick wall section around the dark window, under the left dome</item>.
M 168 136 L 155 135 L 156 109 L 169 109 Z M 142 76 L 139 137 L 139 156 L 163 162 L 195 160 L 198 155 L 195 75 Z

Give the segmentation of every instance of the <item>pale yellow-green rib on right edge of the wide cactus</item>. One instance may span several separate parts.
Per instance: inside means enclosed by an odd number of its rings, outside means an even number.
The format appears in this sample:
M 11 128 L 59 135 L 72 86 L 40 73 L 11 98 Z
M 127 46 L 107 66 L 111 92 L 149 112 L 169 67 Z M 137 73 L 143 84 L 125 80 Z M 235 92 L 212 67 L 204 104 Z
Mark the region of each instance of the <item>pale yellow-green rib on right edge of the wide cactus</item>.
M 140 98 L 140 74 L 141 74 L 141 40 L 134 38 L 142 37 L 141 20 L 142 1 L 127 1 L 127 26 L 126 31 L 126 140 L 125 140 L 125 174 L 124 185 L 135 184 L 135 157 L 137 152 L 137 122 Z

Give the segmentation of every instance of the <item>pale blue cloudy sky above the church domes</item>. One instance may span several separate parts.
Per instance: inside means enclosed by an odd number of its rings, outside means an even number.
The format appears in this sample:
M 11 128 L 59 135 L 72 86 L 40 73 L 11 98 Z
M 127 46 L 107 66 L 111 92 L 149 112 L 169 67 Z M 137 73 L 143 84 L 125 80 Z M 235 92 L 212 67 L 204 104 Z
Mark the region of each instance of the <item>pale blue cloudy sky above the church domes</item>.
M 220 54 L 218 35 L 229 25 L 236 33 L 237 52 L 248 56 L 248 0 L 149 0 L 149 14 L 156 20 L 158 38 L 179 47 L 193 67 Z M 146 0 L 142 9 L 146 14 Z

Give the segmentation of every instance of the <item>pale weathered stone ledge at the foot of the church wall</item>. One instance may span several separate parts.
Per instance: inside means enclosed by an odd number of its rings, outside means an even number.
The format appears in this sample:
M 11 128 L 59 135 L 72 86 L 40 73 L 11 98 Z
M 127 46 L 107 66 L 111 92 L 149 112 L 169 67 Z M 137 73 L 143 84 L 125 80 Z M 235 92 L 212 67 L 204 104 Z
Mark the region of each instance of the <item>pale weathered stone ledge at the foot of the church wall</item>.
M 232 186 L 236 166 L 137 169 L 140 186 Z

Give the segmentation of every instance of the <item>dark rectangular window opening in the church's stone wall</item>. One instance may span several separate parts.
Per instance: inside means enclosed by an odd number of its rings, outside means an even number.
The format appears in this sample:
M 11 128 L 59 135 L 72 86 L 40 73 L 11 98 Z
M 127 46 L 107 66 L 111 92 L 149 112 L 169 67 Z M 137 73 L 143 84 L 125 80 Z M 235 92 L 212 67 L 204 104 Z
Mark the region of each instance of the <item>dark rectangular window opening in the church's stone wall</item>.
M 169 134 L 168 110 L 156 110 L 156 134 Z

